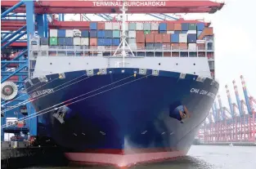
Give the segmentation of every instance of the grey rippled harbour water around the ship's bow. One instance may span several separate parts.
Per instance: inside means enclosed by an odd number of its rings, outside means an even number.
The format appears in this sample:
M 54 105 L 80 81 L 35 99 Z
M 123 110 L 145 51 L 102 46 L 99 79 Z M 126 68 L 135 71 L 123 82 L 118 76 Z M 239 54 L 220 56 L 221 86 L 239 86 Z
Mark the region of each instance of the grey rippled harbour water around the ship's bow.
M 186 157 L 141 164 L 130 169 L 255 169 L 256 146 L 193 145 Z M 31 167 L 32 168 L 32 167 Z M 33 167 L 42 168 L 42 167 Z M 117 167 L 43 167 L 45 169 L 116 169 Z M 120 167 L 123 169 L 123 167 Z

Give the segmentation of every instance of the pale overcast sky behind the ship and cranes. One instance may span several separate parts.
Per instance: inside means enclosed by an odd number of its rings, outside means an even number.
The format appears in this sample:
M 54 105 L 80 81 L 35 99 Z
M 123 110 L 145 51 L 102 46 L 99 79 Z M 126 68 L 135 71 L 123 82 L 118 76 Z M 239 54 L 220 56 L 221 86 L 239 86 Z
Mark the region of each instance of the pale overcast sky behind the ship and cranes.
M 256 98 L 256 22 L 255 0 L 225 0 L 226 5 L 215 14 L 189 14 L 185 19 L 205 19 L 211 21 L 215 34 L 215 69 L 220 82 L 219 94 L 223 105 L 228 107 L 225 85 L 227 84 L 232 101 L 236 102 L 232 80 L 236 80 L 240 99 L 244 99 L 240 75 L 244 75 L 250 96 Z M 101 17 L 88 15 L 91 20 Z M 79 16 L 67 15 L 65 20 L 79 20 Z M 128 20 L 153 20 L 146 15 L 128 16 Z M 254 48 L 255 47 L 255 48 Z

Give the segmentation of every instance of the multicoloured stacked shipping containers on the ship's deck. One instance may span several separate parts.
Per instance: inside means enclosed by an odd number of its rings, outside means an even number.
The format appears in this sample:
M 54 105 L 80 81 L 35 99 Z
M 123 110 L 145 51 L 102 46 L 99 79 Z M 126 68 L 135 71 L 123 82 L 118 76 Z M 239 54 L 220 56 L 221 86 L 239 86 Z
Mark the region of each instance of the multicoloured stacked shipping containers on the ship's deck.
M 128 44 L 133 49 L 172 47 L 204 50 L 205 43 L 198 40 L 213 36 L 213 29 L 204 27 L 203 23 L 127 23 L 126 27 Z M 42 38 L 41 45 L 116 47 L 120 42 L 120 29 L 119 22 L 92 22 L 89 29 L 80 30 L 76 36 L 72 29 L 51 29 L 50 39 Z

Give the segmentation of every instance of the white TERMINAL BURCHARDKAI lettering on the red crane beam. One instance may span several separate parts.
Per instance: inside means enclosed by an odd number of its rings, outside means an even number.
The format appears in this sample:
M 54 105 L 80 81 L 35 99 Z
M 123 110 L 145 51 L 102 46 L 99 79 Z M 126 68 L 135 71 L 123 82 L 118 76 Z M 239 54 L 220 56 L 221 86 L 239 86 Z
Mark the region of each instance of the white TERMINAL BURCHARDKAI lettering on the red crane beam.
M 138 1 L 130 1 L 124 2 L 125 6 L 128 7 L 165 7 L 164 1 L 151 1 L 151 2 L 138 2 Z M 93 2 L 94 7 L 122 7 L 123 2 Z

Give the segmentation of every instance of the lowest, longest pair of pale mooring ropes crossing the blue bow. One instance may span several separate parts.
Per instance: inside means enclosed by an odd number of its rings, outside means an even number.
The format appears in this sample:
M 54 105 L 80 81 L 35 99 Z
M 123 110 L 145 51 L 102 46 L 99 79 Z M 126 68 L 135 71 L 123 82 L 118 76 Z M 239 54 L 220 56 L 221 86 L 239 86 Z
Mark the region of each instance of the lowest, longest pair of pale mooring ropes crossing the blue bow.
M 132 76 L 133 76 L 133 75 L 132 75 Z M 129 76 L 129 77 L 127 77 L 127 78 L 131 78 L 132 76 Z M 110 88 L 110 89 L 107 89 L 106 91 L 113 90 L 113 89 L 115 89 L 115 88 L 117 88 L 117 87 L 124 86 L 124 85 L 126 85 L 126 84 L 128 84 L 128 83 L 135 82 L 135 81 L 137 81 L 137 80 L 140 80 L 140 79 L 142 79 L 142 78 L 146 78 L 146 77 L 148 77 L 148 76 L 150 76 L 150 75 L 146 75 L 145 77 L 137 78 L 137 79 L 132 80 L 132 81 L 130 81 L 130 82 L 125 82 L 124 84 L 121 84 L 121 85 L 116 86 L 116 87 L 112 87 L 112 88 Z M 119 81 L 116 81 L 116 82 L 123 81 L 124 79 L 127 79 L 127 78 L 123 78 L 123 79 L 121 79 L 121 80 L 119 80 Z M 98 89 L 96 89 L 96 90 L 93 90 L 93 91 L 98 91 L 98 90 L 100 90 L 101 88 L 110 86 L 110 85 L 112 85 L 112 84 L 114 84 L 114 83 L 116 83 L 116 82 L 112 82 L 112 83 L 110 83 L 110 84 L 108 84 L 108 85 L 106 85 L 106 86 L 100 87 L 100 88 L 98 88 Z M 91 92 L 93 92 L 93 91 L 89 91 L 88 93 L 91 93 Z M 101 92 L 99 92 L 99 93 L 97 93 L 97 94 L 94 94 L 94 95 L 92 95 L 92 96 L 97 96 L 97 95 L 99 95 L 99 94 L 101 94 L 101 93 L 104 93 L 104 92 L 106 92 L 106 91 L 101 91 Z M 72 99 L 70 99 L 70 100 L 77 99 L 77 98 L 79 98 L 79 97 L 81 97 L 81 96 L 87 95 L 88 93 L 84 93 L 83 95 L 76 96 L 76 97 L 74 97 L 74 98 L 72 98 Z M 85 97 L 85 98 L 83 98 L 83 99 L 76 100 L 76 101 L 74 101 L 74 102 L 71 102 L 71 103 L 62 105 L 62 106 L 57 107 L 57 108 L 54 108 L 54 109 L 59 109 L 59 108 L 64 107 L 64 106 L 66 106 L 66 105 L 72 105 L 72 104 L 74 104 L 74 103 L 76 103 L 76 102 L 79 102 L 79 101 L 81 101 L 81 100 L 86 100 L 86 99 L 88 99 L 88 98 L 90 98 L 90 97 L 92 97 L 92 96 L 88 96 L 88 97 Z M 68 101 L 70 101 L 70 100 L 65 100 L 65 101 L 63 101 L 63 102 L 61 102 L 60 104 L 57 104 L 57 105 L 64 104 L 64 103 L 66 103 L 66 102 L 68 102 Z M 20 120 L 28 120 L 28 119 L 30 119 L 30 118 L 35 118 L 35 117 L 37 117 L 37 116 L 39 116 L 39 115 L 42 115 L 42 114 L 44 114 L 44 113 L 51 112 L 52 110 L 54 110 L 54 109 L 51 109 L 51 108 L 56 107 L 57 105 L 53 105 L 52 107 L 47 108 L 47 109 L 50 109 L 50 110 L 48 110 L 47 112 L 41 113 L 42 111 L 46 110 L 46 109 L 43 109 L 43 110 L 38 111 L 37 114 L 30 114 L 29 116 L 31 116 L 31 117 L 28 117 L 28 116 L 27 116 L 27 117 L 25 117 L 25 118 L 20 118 L 17 122 L 20 122 Z M 4 125 L 1 126 L 1 128 L 7 127 L 7 126 L 8 126 L 7 124 L 4 124 Z M 9 125 L 9 126 L 10 126 L 10 125 Z

